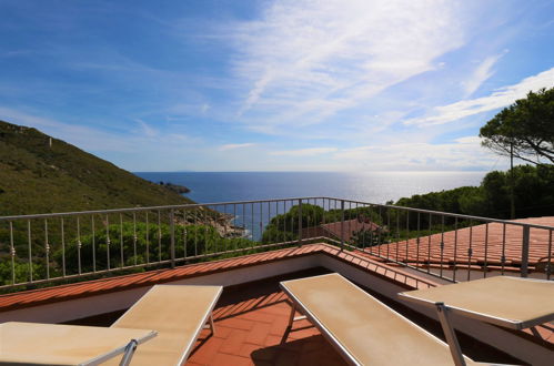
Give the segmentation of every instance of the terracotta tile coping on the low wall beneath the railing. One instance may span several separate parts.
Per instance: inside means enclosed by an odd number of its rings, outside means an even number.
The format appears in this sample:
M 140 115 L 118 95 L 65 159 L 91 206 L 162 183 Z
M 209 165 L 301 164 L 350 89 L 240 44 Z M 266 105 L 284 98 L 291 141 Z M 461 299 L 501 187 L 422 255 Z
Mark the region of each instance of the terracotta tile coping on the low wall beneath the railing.
M 340 261 L 349 262 L 355 266 L 363 268 L 364 271 L 372 272 L 376 275 L 387 278 L 389 281 L 402 283 L 410 288 L 424 288 L 436 285 L 432 281 L 405 273 L 400 268 L 387 266 L 363 255 L 346 251 L 341 252 L 336 246 L 332 246 L 329 244 L 310 244 L 303 245 L 301 247 L 276 250 L 229 260 L 190 264 L 172 270 L 150 271 L 118 277 L 102 278 L 56 287 L 47 287 L 0 295 L 0 312 L 54 302 L 63 302 L 72 298 L 105 294 L 121 289 L 151 286 L 154 284 L 183 279 L 187 277 L 201 276 L 228 270 L 270 263 L 273 261 L 283 261 L 315 253 L 323 253 L 334 256 Z

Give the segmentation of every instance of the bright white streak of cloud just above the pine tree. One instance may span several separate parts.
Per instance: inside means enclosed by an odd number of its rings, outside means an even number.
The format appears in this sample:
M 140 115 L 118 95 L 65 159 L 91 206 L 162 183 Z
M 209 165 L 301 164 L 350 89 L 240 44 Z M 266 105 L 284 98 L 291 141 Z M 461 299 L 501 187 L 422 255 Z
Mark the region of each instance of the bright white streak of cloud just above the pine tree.
M 495 90 L 491 95 L 455 102 L 447 105 L 435 106 L 432 115 L 415 118 L 404 121 L 406 125 L 430 126 L 454 122 L 465 116 L 493 111 L 512 104 L 518 99 L 525 98 L 530 91 L 554 85 L 554 68 L 543 71 L 536 75 L 523 79 L 514 85 L 503 87 Z

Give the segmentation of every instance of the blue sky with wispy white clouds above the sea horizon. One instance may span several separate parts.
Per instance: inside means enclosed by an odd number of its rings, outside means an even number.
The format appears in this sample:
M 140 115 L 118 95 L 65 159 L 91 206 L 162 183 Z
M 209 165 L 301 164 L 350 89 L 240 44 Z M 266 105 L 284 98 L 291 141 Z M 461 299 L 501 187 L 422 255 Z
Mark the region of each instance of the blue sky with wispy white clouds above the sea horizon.
M 131 171 L 506 167 L 552 1 L 0 1 L 0 119 Z

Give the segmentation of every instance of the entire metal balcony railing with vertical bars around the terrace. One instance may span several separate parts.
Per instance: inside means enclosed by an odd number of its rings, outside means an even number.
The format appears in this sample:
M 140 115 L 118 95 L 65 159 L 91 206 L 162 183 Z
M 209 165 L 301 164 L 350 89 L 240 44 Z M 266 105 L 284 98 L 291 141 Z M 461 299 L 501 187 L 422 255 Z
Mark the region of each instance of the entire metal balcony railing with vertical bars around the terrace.
M 326 242 L 447 281 L 551 279 L 554 227 L 333 197 L 0 217 L 0 288 Z

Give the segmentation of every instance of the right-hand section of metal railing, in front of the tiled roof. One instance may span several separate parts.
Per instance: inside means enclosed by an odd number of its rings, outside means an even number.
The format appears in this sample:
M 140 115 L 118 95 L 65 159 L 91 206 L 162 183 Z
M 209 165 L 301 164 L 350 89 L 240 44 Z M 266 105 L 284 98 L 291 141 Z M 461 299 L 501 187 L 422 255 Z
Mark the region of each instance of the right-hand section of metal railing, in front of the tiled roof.
M 552 277 L 553 226 L 341 201 L 345 225 L 352 217 L 380 224 L 361 233 L 346 228 L 344 246 L 389 263 L 452 282 L 497 274 Z

